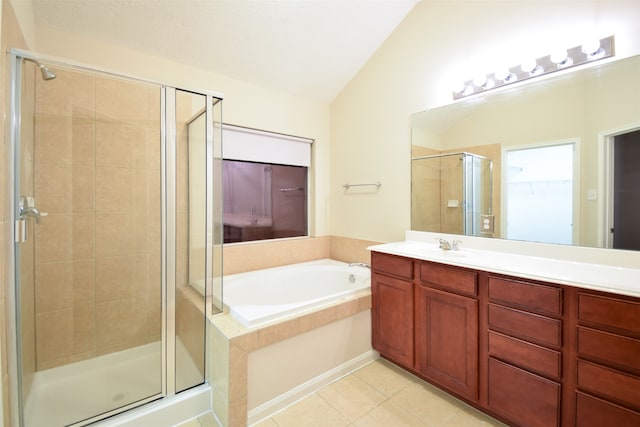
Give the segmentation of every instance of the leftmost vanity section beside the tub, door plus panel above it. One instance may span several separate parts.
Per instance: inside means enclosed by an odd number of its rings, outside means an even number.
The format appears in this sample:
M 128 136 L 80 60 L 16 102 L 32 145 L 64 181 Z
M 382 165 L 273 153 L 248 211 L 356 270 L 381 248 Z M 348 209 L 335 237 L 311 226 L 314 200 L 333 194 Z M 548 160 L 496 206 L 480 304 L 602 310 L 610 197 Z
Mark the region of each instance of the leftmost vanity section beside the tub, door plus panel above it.
M 383 356 L 413 368 L 413 261 L 371 254 L 372 346 Z

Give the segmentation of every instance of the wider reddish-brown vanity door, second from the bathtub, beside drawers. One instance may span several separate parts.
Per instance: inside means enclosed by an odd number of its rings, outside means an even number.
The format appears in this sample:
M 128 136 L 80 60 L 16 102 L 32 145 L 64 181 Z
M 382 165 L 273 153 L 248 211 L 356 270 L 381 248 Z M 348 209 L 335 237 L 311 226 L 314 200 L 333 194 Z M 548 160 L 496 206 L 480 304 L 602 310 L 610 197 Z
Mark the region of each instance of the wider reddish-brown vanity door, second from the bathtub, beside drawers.
M 470 400 L 478 398 L 478 301 L 416 288 L 416 368 Z

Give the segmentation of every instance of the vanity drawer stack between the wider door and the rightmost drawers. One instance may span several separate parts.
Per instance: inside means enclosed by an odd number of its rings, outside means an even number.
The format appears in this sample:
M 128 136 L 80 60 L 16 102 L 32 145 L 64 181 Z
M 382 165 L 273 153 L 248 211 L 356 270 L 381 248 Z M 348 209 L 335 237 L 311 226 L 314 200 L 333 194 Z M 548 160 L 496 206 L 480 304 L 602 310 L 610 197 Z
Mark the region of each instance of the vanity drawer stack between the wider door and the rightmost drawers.
M 488 278 L 488 407 L 516 425 L 559 426 L 563 289 Z

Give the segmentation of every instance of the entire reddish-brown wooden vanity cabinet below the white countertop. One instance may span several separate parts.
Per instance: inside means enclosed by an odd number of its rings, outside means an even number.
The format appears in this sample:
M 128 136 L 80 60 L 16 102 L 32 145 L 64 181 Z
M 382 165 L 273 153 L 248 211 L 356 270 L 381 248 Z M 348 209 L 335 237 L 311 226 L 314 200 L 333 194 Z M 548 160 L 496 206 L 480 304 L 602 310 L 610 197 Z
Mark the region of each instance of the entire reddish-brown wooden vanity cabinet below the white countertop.
M 513 426 L 640 426 L 640 298 L 372 252 L 373 347 Z

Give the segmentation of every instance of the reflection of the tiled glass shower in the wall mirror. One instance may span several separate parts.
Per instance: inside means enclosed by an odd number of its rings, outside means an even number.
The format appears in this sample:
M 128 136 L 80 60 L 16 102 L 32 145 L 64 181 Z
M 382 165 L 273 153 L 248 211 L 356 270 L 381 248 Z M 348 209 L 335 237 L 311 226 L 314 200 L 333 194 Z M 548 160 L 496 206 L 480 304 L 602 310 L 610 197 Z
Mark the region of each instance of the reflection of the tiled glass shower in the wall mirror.
M 492 161 L 471 153 L 411 159 L 411 229 L 493 233 Z

